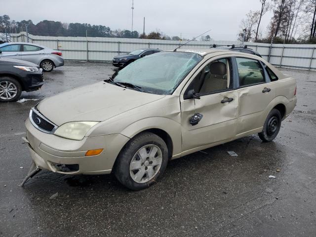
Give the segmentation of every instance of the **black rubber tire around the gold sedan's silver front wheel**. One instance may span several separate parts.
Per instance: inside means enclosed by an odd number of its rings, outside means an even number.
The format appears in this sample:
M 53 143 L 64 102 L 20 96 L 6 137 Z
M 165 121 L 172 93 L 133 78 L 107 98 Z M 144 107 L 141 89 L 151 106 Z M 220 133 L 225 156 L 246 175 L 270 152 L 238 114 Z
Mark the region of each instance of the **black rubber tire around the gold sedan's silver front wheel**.
M 133 180 L 130 172 L 130 164 L 136 153 L 139 149 L 143 148 L 146 145 L 154 145 L 160 148 L 162 155 L 162 162 L 160 168 L 156 171 L 158 172 L 153 178 L 144 183 L 138 183 Z M 131 190 L 141 190 L 150 187 L 152 184 L 156 183 L 157 180 L 161 177 L 168 163 L 168 148 L 165 142 L 156 134 L 151 132 L 142 132 L 132 138 L 122 149 L 118 155 L 116 165 L 114 168 L 114 174 L 117 177 L 118 181 L 125 187 Z M 143 165 L 143 163 L 142 163 Z M 144 168 L 144 166 L 142 166 Z M 138 172 L 138 171 L 137 171 Z M 146 171 L 145 171 L 146 172 Z M 147 174 L 145 174 L 146 176 Z M 153 174 L 154 175 L 154 174 Z M 145 177 L 144 176 L 144 177 Z

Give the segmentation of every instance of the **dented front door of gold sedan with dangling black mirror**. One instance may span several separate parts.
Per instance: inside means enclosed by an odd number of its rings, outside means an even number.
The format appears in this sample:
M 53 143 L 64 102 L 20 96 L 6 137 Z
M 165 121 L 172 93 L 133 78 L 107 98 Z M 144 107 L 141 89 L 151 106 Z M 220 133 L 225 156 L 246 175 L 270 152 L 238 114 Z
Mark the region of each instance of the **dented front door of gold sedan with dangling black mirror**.
M 196 98 L 180 97 L 183 155 L 196 148 L 235 137 L 238 92 L 233 89 L 232 78 L 231 58 L 207 62 L 194 75 L 185 94 L 194 90 Z M 192 125 L 190 118 L 195 115 L 202 118 Z

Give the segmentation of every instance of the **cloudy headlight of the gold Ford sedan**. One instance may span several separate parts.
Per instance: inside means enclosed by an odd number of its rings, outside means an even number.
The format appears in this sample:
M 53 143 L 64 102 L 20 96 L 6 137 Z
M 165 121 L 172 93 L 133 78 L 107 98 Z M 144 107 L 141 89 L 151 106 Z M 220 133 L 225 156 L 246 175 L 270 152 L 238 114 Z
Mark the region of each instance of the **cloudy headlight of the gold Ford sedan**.
M 57 128 L 55 135 L 73 140 L 82 140 L 87 131 L 99 122 L 82 121 L 67 122 Z

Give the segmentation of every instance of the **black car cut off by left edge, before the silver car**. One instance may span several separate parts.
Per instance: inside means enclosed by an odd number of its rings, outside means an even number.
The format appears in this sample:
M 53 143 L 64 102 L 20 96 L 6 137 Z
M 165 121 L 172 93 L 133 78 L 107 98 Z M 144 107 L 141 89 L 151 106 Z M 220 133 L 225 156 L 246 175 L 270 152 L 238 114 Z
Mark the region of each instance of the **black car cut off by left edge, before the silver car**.
M 17 101 L 22 91 L 38 90 L 43 83 L 43 73 L 39 65 L 0 58 L 0 102 Z

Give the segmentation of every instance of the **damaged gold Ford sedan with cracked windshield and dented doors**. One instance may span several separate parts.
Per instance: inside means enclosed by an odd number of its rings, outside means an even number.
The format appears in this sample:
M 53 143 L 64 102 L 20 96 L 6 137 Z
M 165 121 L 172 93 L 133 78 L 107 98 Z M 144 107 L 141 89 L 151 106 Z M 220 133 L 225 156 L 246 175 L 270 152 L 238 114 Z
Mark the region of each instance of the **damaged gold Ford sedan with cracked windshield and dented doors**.
M 114 172 L 127 188 L 144 189 L 170 159 L 255 133 L 272 141 L 295 105 L 296 80 L 258 56 L 159 52 L 32 108 L 24 140 L 34 169 L 26 180 L 41 169 Z

